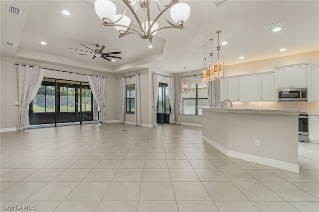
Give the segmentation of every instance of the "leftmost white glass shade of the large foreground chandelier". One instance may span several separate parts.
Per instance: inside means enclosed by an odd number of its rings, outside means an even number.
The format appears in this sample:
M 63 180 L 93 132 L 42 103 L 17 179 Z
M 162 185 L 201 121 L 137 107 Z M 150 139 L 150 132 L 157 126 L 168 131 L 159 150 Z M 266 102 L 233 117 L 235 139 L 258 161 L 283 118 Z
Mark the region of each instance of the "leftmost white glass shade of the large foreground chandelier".
M 116 14 L 116 5 L 110 0 L 96 0 L 94 2 L 96 14 L 101 18 L 112 20 Z

